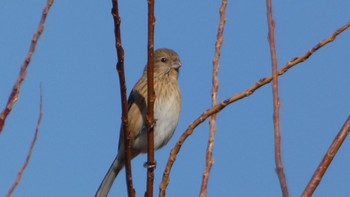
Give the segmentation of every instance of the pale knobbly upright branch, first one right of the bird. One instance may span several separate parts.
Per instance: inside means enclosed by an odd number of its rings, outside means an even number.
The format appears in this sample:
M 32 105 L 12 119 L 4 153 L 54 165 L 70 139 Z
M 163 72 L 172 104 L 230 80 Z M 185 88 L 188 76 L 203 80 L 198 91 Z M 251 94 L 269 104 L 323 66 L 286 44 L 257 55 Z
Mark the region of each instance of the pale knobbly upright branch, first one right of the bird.
M 212 77 L 212 107 L 215 106 L 218 103 L 218 89 L 219 89 L 219 59 L 220 59 L 220 53 L 221 53 L 221 46 L 224 42 L 224 27 L 226 22 L 226 6 L 227 6 L 227 0 L 222 0 L 221 7 L 219 10 L 220 13 L 220 22 L 219 22 L 219 28 L 217 33 L 217 40 L 215 43 L 215 57 L 213 60 L 213 77 Z M 208 180 L 209 180 L 209 174 L 211 171 L 211 167 L 213 166 L 214 160 L 213 160 L 213 148 L 214 148 L 214 139 L 216 134 L 216 113 L 210 116 L 209 121 L 209 127 L 210 127 L 210 133 L 209 133 L 209 140 L 207 145 L 207 152 L 206 152 L 206 166 L 203 173 L 202 178 L 202 185 L 200 190 L 200 196 L 205 197 L 207 196 L 207 189 L 208 189 Z

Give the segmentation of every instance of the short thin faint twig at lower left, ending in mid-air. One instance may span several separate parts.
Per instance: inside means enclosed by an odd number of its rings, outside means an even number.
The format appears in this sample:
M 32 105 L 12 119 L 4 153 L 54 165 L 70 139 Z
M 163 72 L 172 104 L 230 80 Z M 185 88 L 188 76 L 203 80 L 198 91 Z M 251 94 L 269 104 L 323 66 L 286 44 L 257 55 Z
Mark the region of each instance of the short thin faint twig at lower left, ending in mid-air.
M 34 146 L 36 144 L 36 140 L 38 139 L 39 128 L 40 128 L 42 117 L 43 117 L 43 98 L 42 98 L 41 88 L 40 88 L 40 114 L 39 114 L 38 122 L 36 124 L 34 137 L 33 137 L 32 143 L 30 144 L 30 148 L 29 148 L 29 152 L 27 154 L 27 158 L 24 161 L 22 167 L 19 169 L 16 181 L 12 184 L 11 188 L 9 189 L 9 191 L 6 194 L 6 197 L 10 197 L 12 195 L 12 193 L 15 191 L 15 189 L 17 188 L 18 184 L 21 182 L 23 172 L 25 171 L 25 169 L 27 168 L 27 166 L 29 164 L 29 160 L 30 160 L 30 158 L 32 156 L 32 152 L 33 152 Z

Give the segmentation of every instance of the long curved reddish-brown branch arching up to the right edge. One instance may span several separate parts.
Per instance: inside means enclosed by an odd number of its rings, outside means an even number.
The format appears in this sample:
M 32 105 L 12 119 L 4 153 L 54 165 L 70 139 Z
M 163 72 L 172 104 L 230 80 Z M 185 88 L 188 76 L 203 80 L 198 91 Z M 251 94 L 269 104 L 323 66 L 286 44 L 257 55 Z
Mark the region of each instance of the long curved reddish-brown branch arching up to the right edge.
M 328 38 L 322 40 L 321 42 L 319 42 L 317 45 L 315 45 L 312 49 L 310 49 L 309 51 L 305 52 L 303 55 L 296 57 L 294 59 L 292 59 L 291 61 L 289 61 L 283 68 L 281 68 L 278 71 L 278 76 L 283 75 L 284 73 L 286 73 L 290 68 L 294 67 L 295 65 L 304 62 L 305 60 L 307 60 L 311 55 L 313 55 L 318 49 L 322 48 L 323 46 L 325 46 L 326 44 L 334 41 L 337 36 L 342 33 L 343 31 L 345 31 L 347 28 L 350 27 L 350 23 L 347 23 L 346 25 L 344 25 L 343 27 L 339 28 L 337 31 L 335 31 L 331 36 L 329 36 Z M 256 82 L 253 86 L 251 86 L 250 88 L 248 88 L 247 90 L 238 93 L 236 95 L 233 95 L 232 97 L 222 101 L 221 103 L 213 106 L 212 108 L 206 110 L 205 112 L 203 112 L 194 122 L 192 122 L 186 129 L 186 131 L 181 135 L 180 139 L 178 140 L 178 142 L 176 143 L 175 147 L 171 150 L 171 153 L 169 155 L 169 159 L 166 165 L 166 168 L 164 170 L 163 173 L 163 179 L 160 185 L 160 189 L 159 189 L 159 195 L 160 196 L 165 196 L 166 194 L 166 188 L 169 184 L 169 174 L 171 171 L 171 168 L 176 160 L 177 154 L 180 152 L 180 149 L 182 147 L 182 144 L 185 142 L 185 140 L 192 135 L 194 129 L 201 124 L 203 121 L 205 121 L 209 116 L 220 112 L 222 109 L 224 109 L 226 106 L 228 106 L 229 104 L 238 101 L 240 99 L 243 99 L 245 97 L 250 96 L 251 94 L 253 94 L 257 89 L 261 88 L 262 86 L 270 83 L 272 81 L 272 75 L 268 76 L 266 78 L 260 79 L 258 82 Z

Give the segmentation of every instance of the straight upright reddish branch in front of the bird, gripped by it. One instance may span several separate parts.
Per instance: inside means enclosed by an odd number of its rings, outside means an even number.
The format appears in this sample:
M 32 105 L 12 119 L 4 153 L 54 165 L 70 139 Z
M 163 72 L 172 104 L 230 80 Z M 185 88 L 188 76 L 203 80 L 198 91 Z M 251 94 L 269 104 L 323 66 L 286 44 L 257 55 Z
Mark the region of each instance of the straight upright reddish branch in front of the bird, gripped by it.
M 148 0 L 148 65 L 147 65 L 147 191 L 145 196 L 153 196 L 153 181 L 154 181 L 154 101 L 156 96 L 154 94 L 154 77 L 153 77 L 153 67 L 154 67 L 154 0 Z

